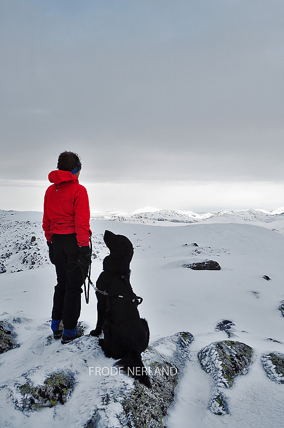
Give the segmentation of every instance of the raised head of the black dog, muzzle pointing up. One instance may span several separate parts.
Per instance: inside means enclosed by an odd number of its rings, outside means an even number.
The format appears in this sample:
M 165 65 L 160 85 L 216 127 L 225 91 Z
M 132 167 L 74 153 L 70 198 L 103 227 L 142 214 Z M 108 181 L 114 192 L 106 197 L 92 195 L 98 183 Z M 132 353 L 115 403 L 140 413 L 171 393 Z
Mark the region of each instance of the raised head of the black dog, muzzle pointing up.
M 112 273 L 130 273 L 130 262 L 133 257 L 133 245 L 123 235 L 115 235 L 108 230 L 105 231 L 104 241 L 110 250 L 110 255 L 103 262 L 104 270 Z

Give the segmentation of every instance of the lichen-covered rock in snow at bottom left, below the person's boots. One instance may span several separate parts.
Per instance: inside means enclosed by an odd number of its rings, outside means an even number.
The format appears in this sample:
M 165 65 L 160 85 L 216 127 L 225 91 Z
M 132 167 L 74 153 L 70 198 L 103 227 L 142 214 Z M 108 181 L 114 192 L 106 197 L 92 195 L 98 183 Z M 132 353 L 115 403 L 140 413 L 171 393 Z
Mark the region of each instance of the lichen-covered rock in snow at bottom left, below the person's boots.
M 47 377 L 43 385 L 34 386 L 32 382 L 19 385 L 13 394 L 17 409 L 23 411 L 39 410 L 65 404 L 73 388 L 75 380 L 71 373 L 54 373 Z

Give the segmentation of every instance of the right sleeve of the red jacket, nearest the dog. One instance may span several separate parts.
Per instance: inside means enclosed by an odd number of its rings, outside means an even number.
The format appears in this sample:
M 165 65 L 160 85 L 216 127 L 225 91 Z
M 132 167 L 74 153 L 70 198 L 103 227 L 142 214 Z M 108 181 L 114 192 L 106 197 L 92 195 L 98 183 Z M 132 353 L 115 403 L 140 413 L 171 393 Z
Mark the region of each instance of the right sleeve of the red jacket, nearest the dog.
M 78 245 L 89 245 L 90 209 L 86 189 L 80 185 L 74 195 L 75 231 Z

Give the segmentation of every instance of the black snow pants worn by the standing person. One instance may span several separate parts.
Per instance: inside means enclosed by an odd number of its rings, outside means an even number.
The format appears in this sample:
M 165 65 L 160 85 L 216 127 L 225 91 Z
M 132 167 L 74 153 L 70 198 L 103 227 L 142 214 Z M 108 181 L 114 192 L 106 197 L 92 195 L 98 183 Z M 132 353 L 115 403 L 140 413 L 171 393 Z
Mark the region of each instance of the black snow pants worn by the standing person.
M 51 262 L 55 265 L 57 284 L 54 287 L 53 320 L 63 321 L 64 329 L 72 330 L 76 327 L 81 312 L 82 284 L 85 273 L 77 265 L 79 255 L 76 234 L 52 235 L 54 256 Z

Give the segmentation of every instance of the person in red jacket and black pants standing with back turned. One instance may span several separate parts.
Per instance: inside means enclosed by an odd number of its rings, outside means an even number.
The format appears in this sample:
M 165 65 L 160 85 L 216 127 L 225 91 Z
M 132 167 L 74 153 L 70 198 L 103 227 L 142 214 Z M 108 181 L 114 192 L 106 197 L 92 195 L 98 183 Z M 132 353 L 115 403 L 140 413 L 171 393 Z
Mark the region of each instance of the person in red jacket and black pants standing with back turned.
M 89 201 L 86 189 L 78 181 L 80 170 L 81 162 L 76 153 L 61 153 L 57 170 L 48 175 L 53 184 L 44 197 L 42 227 L 57 275 L 51 329 L 54 338 L 61 338 L 63 344 L 83 334 L 77 328 L 77 321 L 81 311 L 81 287 L 91 262 Z

